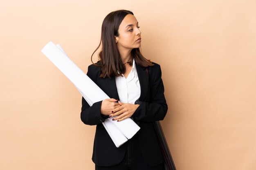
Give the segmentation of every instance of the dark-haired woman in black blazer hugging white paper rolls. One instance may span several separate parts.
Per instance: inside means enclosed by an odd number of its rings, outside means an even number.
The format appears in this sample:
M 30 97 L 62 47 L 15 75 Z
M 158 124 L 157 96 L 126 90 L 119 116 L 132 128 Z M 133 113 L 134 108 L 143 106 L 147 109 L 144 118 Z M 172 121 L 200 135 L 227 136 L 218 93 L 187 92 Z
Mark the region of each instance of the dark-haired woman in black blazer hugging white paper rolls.
M 88 66 L 87 75 L 110 99 L 89 106 L 82 98 L 81 109 L 83 123 L 97 125 L 92 154 L 95 169 L 162 170 L 163 156 L 153 126 L 168 109 L 161 68 L 141 54 L 141 31 L 133 13 L 109 13 L 103 20 L 101 43 L 99 62 Z M 109 117 L 113 121 L 131 117 L 140 130 L 117 148 L 102 125 Z

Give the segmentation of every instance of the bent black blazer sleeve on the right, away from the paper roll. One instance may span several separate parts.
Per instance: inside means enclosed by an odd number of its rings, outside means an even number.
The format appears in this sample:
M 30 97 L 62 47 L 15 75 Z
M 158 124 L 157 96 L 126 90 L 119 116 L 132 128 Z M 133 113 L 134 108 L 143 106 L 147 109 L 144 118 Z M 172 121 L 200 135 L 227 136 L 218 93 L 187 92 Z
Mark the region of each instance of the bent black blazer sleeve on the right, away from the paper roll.
M 155 64 L 155 67 L 151 71 L 148 69 L 150 102 L 138 100 L 135 102 L 135 104 L 139 104 L 139 107 L 132 115 L 136 121 L 163 120 L 167 113 L 168 106 L 164 97 L 164 84 L 161 78 L 162 71 L 159 64 Z

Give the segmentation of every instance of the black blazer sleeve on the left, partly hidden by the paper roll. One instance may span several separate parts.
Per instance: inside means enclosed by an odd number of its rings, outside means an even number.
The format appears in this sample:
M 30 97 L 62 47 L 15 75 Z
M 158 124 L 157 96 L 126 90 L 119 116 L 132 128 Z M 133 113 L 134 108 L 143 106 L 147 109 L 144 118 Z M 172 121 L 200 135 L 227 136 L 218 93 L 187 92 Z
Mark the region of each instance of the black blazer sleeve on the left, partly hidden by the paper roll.
M 92 79 L 94 83 L 97 80 L 97 72 L 92 72 L 92 65 L 88 66 L 87 75 Z M 88 125 L 98 125 L 105 121 L 108 116 L 101 114 L 101 103 L 102 101 L 96 102 L 90 106 L 86 100 L 82 97 L 82 108 L 81 108 L 81 121 Z

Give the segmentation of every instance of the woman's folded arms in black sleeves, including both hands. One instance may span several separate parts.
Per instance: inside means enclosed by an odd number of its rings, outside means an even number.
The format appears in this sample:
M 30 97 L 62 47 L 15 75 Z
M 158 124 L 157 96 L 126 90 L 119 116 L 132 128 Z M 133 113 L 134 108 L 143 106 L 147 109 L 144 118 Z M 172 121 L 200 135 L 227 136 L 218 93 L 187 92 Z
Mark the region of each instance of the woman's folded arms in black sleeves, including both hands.
M 82 98 L 81 120 L 85 124 L 96 125 L 105 121 L 108 117 L 113 120 L 122 121 L 133 117 L 137 121 L 163 120 L 168 106 L 164 97 L 164 85 L 161 78 L 161 68 L 156 65 L 154 78 L 150 82 L 150 102 L 138 101 L 139 104 L 117 102 L 116 99 L 104 99 L 92 106 Z M 90 77 L 90 67 L 88 76 Z M 91 77 L 90 77 L 91 78 Z

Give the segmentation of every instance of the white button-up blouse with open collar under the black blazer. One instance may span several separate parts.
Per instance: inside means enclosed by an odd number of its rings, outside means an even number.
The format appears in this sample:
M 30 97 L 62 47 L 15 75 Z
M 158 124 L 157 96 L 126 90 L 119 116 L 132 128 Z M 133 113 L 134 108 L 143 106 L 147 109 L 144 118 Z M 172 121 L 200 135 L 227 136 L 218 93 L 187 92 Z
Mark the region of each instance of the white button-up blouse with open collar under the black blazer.
M 134 104 L 140 97 L 140 84 L 134 59 L 128 77 L 122 75 L 123 77 L 115 77 L 119 100 L 122 103 Z

